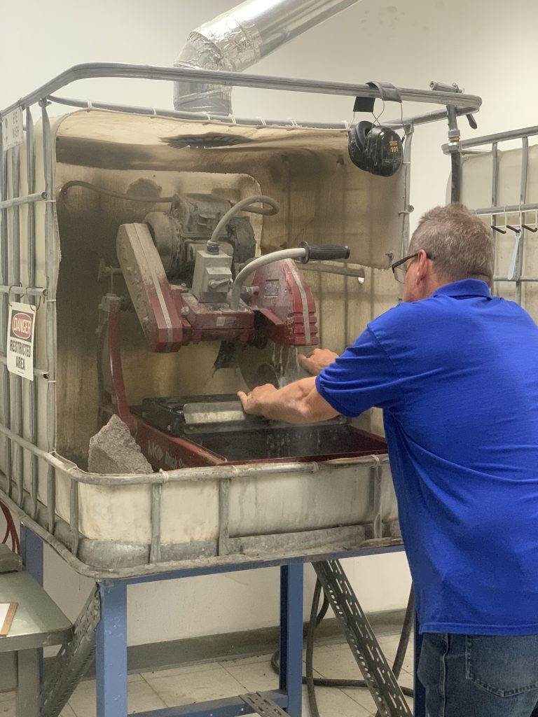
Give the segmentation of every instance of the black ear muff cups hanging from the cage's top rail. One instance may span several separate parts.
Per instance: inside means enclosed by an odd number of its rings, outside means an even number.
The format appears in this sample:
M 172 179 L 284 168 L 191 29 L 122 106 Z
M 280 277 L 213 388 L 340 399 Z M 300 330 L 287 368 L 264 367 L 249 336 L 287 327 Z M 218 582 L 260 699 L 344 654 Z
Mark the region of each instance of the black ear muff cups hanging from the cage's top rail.
M 403 160 L 402 141 L 388 127 L 359 122 L 349 130 L 349 158 L 364 171 L 379 176 L 395 174 Z

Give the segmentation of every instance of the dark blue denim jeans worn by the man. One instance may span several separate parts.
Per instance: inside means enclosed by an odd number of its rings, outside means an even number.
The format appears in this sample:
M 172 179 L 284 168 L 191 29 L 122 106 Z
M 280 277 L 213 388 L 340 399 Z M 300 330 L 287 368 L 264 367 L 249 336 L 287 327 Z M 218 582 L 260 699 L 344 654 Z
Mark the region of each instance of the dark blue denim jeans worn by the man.
M 417 678 L 426 717 L 531 717 L 538 635 L 425 633 Z

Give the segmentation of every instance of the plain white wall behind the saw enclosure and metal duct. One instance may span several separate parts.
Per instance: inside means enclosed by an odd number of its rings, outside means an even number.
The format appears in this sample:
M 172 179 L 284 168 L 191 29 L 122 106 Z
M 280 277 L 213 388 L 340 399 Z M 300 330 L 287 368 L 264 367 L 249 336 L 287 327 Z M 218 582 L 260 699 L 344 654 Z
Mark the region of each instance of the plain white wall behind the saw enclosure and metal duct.
M 0 26 L 0 107 L 80 62 L 171 65 L 190 29 L 233 5 L 233 0 L 93 0 L 70 4 L 29 0 Z M 15 6 L 12 6 L 13 8 Z M 430 80 L 457 82 L 481 95 L 478 133 L 538 123 L 534 73 L 535 0 L 362 0 L 265 58 L 258 74 L 366 82 L 388 80 L 426 88 Z M 351 120 L 352 100 L 326 95 L 234 90 L 238 116 Z M 86 80 L 62 96 L 171 107 L 171 85 Z M 408 107 L 405 113 L 424 111 Z M 398 115 L 387 108 L 385 117 Z M 461 120 L 463 136 L 471 136 Z M 444 202 L 449 160 L 440 153 L 444 123 L 418 127 L 413 140 L 412 204 L 418 216 Z M 402 554 L 347 561 L 367 610 L 403 607 L 409 575 Z M 311 588 L 311 569 L 307 569 Z M 278 616 L 275 569 L 184 579 L 129 591 L 131 644 L 274 625 Z M 70 574 L 47 551 L 47 589 L 71 617 L 89 581 Z M 309 592 L 309 591 L 308 591 Z

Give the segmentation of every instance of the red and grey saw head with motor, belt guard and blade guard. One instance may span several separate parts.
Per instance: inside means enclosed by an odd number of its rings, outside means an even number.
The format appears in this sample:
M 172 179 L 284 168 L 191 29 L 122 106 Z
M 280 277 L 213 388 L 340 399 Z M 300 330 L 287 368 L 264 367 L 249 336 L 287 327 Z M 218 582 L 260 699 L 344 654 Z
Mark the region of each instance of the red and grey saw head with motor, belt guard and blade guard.
M 204 340 L 259 343 L 260 327 L 275 343 L 318 343 L 313 295 L 292 260 L 258 268 L 237 309 L 230 308 L 232 280 L 256 249 L 249 217 L 237 216 L 217 237 L 218 251 L 208 247 L 231 206 L 212 194 L 178 195 L 169 213 L 119 228 L 118 260 L 152 351 Z

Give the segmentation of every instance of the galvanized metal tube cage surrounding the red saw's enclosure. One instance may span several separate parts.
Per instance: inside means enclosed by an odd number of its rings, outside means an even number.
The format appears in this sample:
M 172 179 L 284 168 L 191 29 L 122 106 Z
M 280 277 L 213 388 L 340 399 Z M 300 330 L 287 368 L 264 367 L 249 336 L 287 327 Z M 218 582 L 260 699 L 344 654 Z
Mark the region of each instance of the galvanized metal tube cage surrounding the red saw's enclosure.
M 294 92 L 313 92 L 326 95 L 343 95 L 349 98 L 379 98 L 379 90 L 369 85 L 354 85 L 342 82 L 325 82 L 317 80 L 296 80 L 282 77 L 263 75 L 248 75 L 236 72 L 214 72 L 209 70 L 185 70 L 172 67 L 149 67 L 142 65 L 116 65 L 116 64 L 87 64 L 77 65 L 70 70 L 55 77 L 54 80 L 39 87 L 17 103 L 10 105 L 0 112 L 2 133 L 2 158 L 0 164 L 1 185 L 1 278 L 0 278 L 0 335 L 5 337 L 9 315 L 9 303 L 12 298 L 26 300 L 37 309 L 37 341 L 44 341 L 44 365 L 34 367 L 34 381 L 29 386 L 29 412 L 24 414 L 22 381 L 19 376 L 9 374 L 6 367 L 6 352 L 4 347 L 0 353 L 0 372 L 2 376 L 1 412 L 2 421 L 0 433 L 4 439 L 4 462 L 6 475 L 4 476 L 4 490 L 0 491 L 0 499 L 11 508 L 18 518 L 34 533 L 49 543 L 70 566 L 81 574 L 93 576 L 95 579 L 106 576 L 108 578 L 128 578 L 134 575 L 157 574 L 170 571 L 185 565 L 184 561 L 163 562 L 161 556 L 161 493 L 165 483 L 180 482 L 182 480 L 206 480 L 217 478 L 220 480 L 220 543 L 226 544 L 227 537 L 227 509 L 226 499 L 230 481 L 237 477 L 249 475 L 293 473 L 296 471 L 313 473 L 318 470 L 316 462 L 311 463 L 280 463 L 278 465 L 256 466 L 220 466 L 212 468 L 184 468 L 171 470 L 166 473 L 152 475 L 98 475 L 86 473 L 75 464 L 68 462 L 57 454 L 56 445 L 56 282 L 57 282 L 57 247 L 59 234 L 55 215 L 55 185 L 54 185 L 54 143 L 49 122 L 47 108 L 49 105 L 67 105 L 75 108 L 95 108 L 96 110 L 113 110 L 119 113 L 133 113 L 141 115 L 154 115 L 164 118 L 180 118 L 194 121 L 217 121 L 227 125 L 274 125 L 279 127 L 301 128 L 333 128 L 349 130 L 345 122 L 316 123 L 301 120 L 264 120 L 260 118 L 235 118 L 231 115 L 207 115 L 206 113 L 187 113 L 174 110 L 155 110 L 153 108 L 140 108 L 127 105 L 113 105 L 109 103 L 85 103 L 78 100 L 69 100 L 54 95 L 57 90 L 77 80 L 88 78 L 123 78 L 168 81 L 195 81 L 207 82 L 215 85 L 232 85 L 237 87 L 255 87 L 265 90 L 288 90 Z M 402 128 L 405 134 L 404 164 L 405 173 L 404 196 L 399 210 L 401 226 L 401 247 L 405 250 L 409 239 L 410 207 L 410 158 L 411 141 L 415 125 L 429 123 L 437 120 L 448 120 L 448 152 L 453 163 L 453 199 L 458 199 L 458 160 L 459 150 L 466 143 L 460 142 L 458 130 L 458 116 L 467 115 L 471 126 L 472 113 L 481 105 L 481 99 L 475 95 L 466 95 L 458 90 L 456 85 L 440 85 L 431 83 L 429 90 L 413 90 L 398 88 L 400 98 L 405 101 L 443 105 L 442 109 L 429 113 L 398 118 L 384 124 L 392 128 Z M 34 121 L 32 107 L 39 105 L 42 118 L 42 149 L 43 167 L 36 166 L 34 155 Z M 24 113 L 25 124 L 22 142 L 25 144 L 27 154 L 27 194 L 21 192 L 21 146 L 11 146 L 12 137 L 6 136 L 6 130 L 11 128 L 16 113 Z M 7 148 L 6 148 L 7 147 Z M 360 171 L 357 169 L 357 171 Z M 39 191 L 42 189 L 42 191 Z M 44 276 L 42 285 L 37 285 L 37 245 L 36 222 L 37 205 L 44 206 Z M 27 206 L 27 222 L 22 227 L 20 210 Z M 41 213 L 41 212 L 40 212 Z M 11 234 L 9 232 L 11 227 Z M 27 271 L 22 275 L 21 269 L 21 237 L 22 232 L 27 234 Z M 388 268 L 388 267 L 387 267 Z M 520 280 L 525 280 L 522 277 Z M 44 320 L 43 320 L 44 313 Z M 42 390 L 42 384 L 46 384 Z M 37 385 L 39 384 L 39 385 Z M 39 394 L 39 395 L 38 395 Z M 44 447 L 38 447 L 37 402 L 46 402 L 47 422 L 46 435 L 40 437 Z M 25 460 L 26 458 L 26 460 Z M 379 472 L 382 466 L 387 465 L 387 455 L 361 457 L 354 459 L 357 469 Z M 46 466 L 46 493 L 47 505 L 38 500 L 39 463 Z M 339 462 L 327 462 L 330 470 L 335 474 L 339 470 Z M 25 495 L 24 466 L 29 464 L 29 490 Z M 328 466 L 329 467 L 329 466 Z M 70 525 L 60 520 L 56 514 L 57 478 L 67 478 L 70 485 Z M 114 486 L 119 485 L 151 485 L 151 545 L 148 549 L 146 564 L 137 566 L 121 566 L 110 569 L 95 569 L 85 564 L 79 558 L 79 484 Z M 374 521 L 375 523 L 375 521 Z M 275 546 L 271 555 L 273 564 L 275 560 L 282 561 L 286 557 L 326 555 L 328 547 L 334 544 L 338 537 L 338 529 L 328 531 L 326 545 L 313 549 L 301 549 L 301 545 L 293 543 L 284 546 Z M 386 548 L 387 545 L 400 543 L 395 538 L 382 538 L 379 531 L 374 531 L 374 539 L 361 543 L 361 549 Z M 224 551 L 225 552 L 225 551 Z M 351 553 L 347 553 L 351 554 Z M 217 555 L 211 565 L 222 566 L 235 564 L 247 560 L 246 556 L 234 554 Z M 252 559 L 250 559 L 252 563 Z M 261 562 L 268 564 L 268 559 Z

